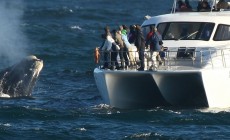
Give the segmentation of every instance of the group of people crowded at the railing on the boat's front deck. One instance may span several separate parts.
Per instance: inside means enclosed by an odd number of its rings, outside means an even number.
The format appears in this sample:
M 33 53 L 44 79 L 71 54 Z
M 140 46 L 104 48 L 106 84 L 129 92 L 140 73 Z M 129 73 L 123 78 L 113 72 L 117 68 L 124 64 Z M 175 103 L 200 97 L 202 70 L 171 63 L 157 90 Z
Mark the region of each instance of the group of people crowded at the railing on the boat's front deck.
M 159 43 L 162 42 L 162 37 L 156 27 L 150 26 L 146 37 L 142 33 L 140 25 L 130 25 L 129 28 L 126 25 L 120 25 L 117 30 L 113 29 L 112 31 L 106 26 L 104 32 L 102 34 L 103 43 L 99 49 L 104 61 L 102 68 L 111 70 L 137 68 L 137 70 L 143 71 L 146 49 L 150 49 L 152 58 L 150 70 L 157 68 L 156 61 L 162 64 L 158 57 L 162 48 L 162 43 Z

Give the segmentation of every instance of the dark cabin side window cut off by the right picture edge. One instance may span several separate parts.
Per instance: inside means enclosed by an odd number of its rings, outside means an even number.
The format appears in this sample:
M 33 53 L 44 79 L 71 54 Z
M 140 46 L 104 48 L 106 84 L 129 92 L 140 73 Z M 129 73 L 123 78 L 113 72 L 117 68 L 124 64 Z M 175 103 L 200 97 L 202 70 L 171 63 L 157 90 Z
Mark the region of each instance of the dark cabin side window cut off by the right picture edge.
M 215 41 L 230 40 L 230 26 L 220 24 L 217 27 L 214 39 Z

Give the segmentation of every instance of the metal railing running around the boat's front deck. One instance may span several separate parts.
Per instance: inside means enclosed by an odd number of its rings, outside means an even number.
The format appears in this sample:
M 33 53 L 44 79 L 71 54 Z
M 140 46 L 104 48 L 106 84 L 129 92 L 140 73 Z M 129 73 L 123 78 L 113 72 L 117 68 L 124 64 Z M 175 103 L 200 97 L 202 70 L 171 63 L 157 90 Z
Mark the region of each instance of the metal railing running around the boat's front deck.
M 140 59 L 137 51 L 125 51 L 128 61 L 120 59 L 120 52 L 100 51 L 100 59 L 97 66 L 100 69 L 119 70 L 136 70 L 140 67 Z M 131 60 L 129 54 L 133 54 Z M 111 56 L 117 56 L 111 59 Z M 152 56 L 151 51 L 144 52 L 145 70 L 152 65 L 157 65 L 158 70 L 192 70 L 192 69 L 216 69 L 230 68 L 230 48 L 203 48 L 198 50 L 195 47 L 179 47 L 177 50 L 169 50 L 168 48 L 159 52 L 160 57 Z M 160 60 L 157 60 L 160 58 Z M 133 64 L 133 65 L 131 65 Z

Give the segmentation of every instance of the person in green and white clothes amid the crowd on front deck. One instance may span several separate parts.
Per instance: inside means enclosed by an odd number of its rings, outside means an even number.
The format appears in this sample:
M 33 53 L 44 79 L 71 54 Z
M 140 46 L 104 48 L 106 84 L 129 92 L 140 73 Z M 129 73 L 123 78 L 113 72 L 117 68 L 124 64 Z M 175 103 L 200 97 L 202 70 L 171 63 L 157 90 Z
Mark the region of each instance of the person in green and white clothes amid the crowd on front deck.
M 123 26 L 123 30 L 121 31 L 121 38 L 122 38 L 122 40 L 124 42 L 125 47 L 128 49 L 130 67 L 133 68 L 134 65 L 135 65 L 135 59 L 134 59 L 134 56 L 133 56 L 133 46 L 128 41 L 127 29 L 125 27 L 126 26 Z

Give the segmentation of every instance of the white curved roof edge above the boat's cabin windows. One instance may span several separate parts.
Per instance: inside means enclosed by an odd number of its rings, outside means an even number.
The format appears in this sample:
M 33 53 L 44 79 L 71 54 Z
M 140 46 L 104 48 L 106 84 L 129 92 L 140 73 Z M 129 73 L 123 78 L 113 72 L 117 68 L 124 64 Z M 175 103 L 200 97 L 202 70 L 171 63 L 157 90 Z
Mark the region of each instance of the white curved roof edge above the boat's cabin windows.
M 158 25 L 163 22 L 213 22 L 229 24 L 230 11 L 219 12 L 177 12 L 151 17 L 142 26 Z

